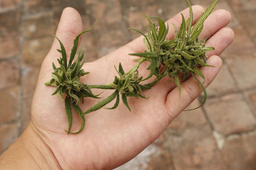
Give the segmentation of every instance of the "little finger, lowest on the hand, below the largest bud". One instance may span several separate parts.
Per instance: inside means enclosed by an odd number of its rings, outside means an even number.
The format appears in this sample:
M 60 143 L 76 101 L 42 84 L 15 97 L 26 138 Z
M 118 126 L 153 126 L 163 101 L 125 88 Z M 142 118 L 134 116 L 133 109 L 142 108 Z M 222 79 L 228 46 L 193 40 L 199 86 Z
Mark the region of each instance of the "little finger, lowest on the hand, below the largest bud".
M 214 55 L 208 58 L 207 64 L 215 67 L 201 67 L 200 70 L 205 75 L 206 88 L 216 77 L 217 73 L 221 69 L 222 60 L 218 56 Z M 201 77 L 197 77 L 201 82 Z M 166 97 L 165 106 L 172 121 L 179 113 L 181 113 L 191 102 L 193 102 L 202 92 L 202 88 L 194 77 L 190 77 L 185 82 L 181 83 L 181 97 L 179 99 L 179 90 L 176 87 Z

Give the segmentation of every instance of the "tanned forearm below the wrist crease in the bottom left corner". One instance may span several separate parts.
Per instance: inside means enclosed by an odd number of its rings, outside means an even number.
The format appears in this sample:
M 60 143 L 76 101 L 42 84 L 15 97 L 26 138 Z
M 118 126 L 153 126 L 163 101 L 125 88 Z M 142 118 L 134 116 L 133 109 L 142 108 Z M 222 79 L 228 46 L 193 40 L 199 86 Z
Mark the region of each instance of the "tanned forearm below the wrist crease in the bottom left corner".
M 52 151 L 31 125 L 0 156 L 1 169 L 60 169 Z

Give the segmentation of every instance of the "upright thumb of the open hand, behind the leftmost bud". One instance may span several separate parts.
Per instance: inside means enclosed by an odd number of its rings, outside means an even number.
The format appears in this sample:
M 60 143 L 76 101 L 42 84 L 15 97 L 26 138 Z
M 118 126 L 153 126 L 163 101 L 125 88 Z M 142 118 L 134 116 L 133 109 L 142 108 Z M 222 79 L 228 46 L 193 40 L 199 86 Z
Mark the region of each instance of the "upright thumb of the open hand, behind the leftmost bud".
M 60 39 L 66 49 L 67 57 L 70 56 L 73 42 L 77 34 L 82 32 L 82 18 L 80 14 L 72 7 L 63 10 L 60 22 L 56 31 L 56 37 Z M 55 38 L 53 45 L 44 59 L 42 66 L 52 66 L 52 62 L 56 62 L 61 54 L 56 50 L 60 49 L 59 41 Z M 47 67 L 46 67 L 47 69 Z

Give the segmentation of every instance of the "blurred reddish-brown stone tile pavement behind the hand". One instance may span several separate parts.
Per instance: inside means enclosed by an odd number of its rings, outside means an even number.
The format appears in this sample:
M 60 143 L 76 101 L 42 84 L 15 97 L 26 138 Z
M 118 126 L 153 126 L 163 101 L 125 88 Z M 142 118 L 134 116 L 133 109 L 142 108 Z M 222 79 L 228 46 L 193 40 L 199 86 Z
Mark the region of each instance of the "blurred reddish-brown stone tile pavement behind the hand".
M 213 0 L 191 0 L 209 6 Z M 1 0 L 0 1 L 0 153 L 30 120 L 40 64 L 53 42 L 64 7 L 82 15 L 81 41 L 87 61 L 125 45 L 144 30 L 141 14 L 164 20 L 188 7 L 186 0 Z M 207 88 L 207 103 L 178 116 L 136 158 L 118 169 L 256 169 L 256 1 L 219 0 L 215 9 L 232 15 L 235 40 L 221 54 L 223 68 Z M 191 108 L 199 105 L 197 99 Z

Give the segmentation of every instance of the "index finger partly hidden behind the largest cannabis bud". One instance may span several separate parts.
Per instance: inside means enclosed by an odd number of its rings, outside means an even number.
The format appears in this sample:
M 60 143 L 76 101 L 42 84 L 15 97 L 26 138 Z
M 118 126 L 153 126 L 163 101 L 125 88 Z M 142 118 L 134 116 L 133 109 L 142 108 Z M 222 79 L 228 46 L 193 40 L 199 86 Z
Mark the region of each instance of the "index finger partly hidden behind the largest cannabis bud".
M 192 10 L 193 10 L 193 23 L 195 23 L 197 19 L 201 16 L 201 13 L 204 11 L 204 8 L 200 5 L 194 5 L 192 6 Z M 185 10 L 181 11 L 181 13 L 184 15 L 185 19 L 189 18 L 189 8 L 186 8 Z M 181 14 L 180 13 L 176 14 L 167 22 L 169 24 L 169 32 L 167 34 L 167 38 L 172 39 L 174 37 L 174 28 L 172 26 L 172 23 L 174 23 L 177 29 L 179 29 L 182 23 Z M 143 30 L 141 31 L 143 32 Z M 129 48 L 131 52 L 143 52 L 145 50 L 143 38 L 144 36 L 140 36 L 125 46 Z

